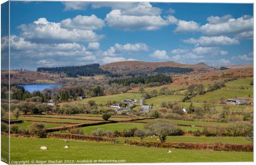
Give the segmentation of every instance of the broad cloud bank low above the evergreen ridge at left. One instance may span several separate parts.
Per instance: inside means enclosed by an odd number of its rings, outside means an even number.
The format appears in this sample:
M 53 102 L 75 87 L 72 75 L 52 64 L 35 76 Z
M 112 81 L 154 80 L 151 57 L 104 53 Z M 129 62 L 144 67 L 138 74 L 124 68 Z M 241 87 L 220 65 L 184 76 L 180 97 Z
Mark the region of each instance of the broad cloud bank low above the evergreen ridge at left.
M 2 50 L 8 47 L 8 37 L 1 38 Z M 26 66 L 63 66 L 84 65 L 96 60 L 92 52 L 78 43 L 38 44 L 25 40 L 25 38 L 10 36 L 11 65 L 15 67 Z M 29 59 L 29 60 L 28 60 Z M 19 64 L 19 66 L 18 66 Z

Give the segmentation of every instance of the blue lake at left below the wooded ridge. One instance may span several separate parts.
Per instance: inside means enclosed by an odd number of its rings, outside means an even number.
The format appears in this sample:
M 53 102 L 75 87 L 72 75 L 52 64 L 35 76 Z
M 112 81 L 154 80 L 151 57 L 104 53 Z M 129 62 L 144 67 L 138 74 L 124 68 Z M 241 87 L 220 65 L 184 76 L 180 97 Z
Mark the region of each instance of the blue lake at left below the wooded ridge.
M 26 84 L 26 85 L 19 85 L 25 88 L 28 92 L 32 93 L 34 91 L 42 92 L 45 88 L 53 88 L 59 87 L 60 84 Z

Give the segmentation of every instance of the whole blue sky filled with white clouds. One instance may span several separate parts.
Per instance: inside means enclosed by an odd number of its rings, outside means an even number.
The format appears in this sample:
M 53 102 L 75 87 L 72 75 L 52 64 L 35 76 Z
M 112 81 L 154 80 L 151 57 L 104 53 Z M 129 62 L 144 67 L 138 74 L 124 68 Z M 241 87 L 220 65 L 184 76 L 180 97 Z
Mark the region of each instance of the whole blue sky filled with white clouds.
M 253 5 L 11 1 L 11 68 L 253 63 Z M 7 50 L 2 32 L 2 52 Z

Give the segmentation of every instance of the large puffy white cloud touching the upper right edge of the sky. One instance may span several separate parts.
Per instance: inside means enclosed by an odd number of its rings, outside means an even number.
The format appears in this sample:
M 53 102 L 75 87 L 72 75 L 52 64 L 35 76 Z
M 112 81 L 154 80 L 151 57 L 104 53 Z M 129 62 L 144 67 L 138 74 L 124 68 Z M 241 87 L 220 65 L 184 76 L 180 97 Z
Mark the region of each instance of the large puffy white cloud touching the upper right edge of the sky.
M 245 31 L 253 31 L 253 17 L 244 15 L 237 19 L 230 16 L 225 18 L 210 17 L 209 24 L 201 26 L 201 32 L 204 35 L 236 35 Z M 214 24 L 213 24 L 214 23 Z

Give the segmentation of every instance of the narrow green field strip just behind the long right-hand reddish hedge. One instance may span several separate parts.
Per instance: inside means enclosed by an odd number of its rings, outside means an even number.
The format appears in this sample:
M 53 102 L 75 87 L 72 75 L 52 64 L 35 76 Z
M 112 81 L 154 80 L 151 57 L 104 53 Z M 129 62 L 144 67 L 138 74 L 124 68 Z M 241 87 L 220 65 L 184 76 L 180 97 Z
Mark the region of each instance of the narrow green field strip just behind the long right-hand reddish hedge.
M 128 140 L 139 140 L 139 137 L 119 137 L 117 140 L 119 143 L 124 143 Z M 158 141 L 158 137 L 145 137 L 143 141 Z M 190 136 L 168 136 L 166 141 L 174 142 L 191 142 L 191 143 L 215 143 L 219 141 L 218 137 L 190 137 Z M 251 141 L 246 140 L 246 137 L 220 137 L 221 143 L 232 143 L 232 144 L 249 144 Z

